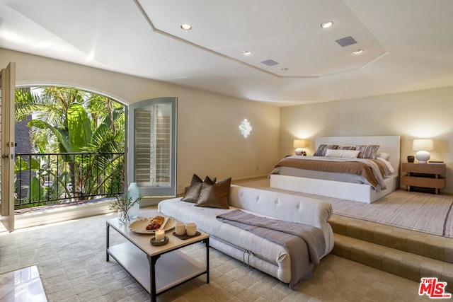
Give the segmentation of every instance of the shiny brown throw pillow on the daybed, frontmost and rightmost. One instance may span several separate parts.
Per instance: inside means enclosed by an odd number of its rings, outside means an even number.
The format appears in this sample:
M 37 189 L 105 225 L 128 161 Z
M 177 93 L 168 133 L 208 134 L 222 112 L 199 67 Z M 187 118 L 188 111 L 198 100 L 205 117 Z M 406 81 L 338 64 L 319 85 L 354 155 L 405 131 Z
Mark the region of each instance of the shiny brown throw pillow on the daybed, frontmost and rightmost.
M 229 188 L 231 186 L 231 178 L 214 183 L 210 185 L 203 182 L 196 207 L 209 207 L 219 209 L 229 209 L 228 197 Z

